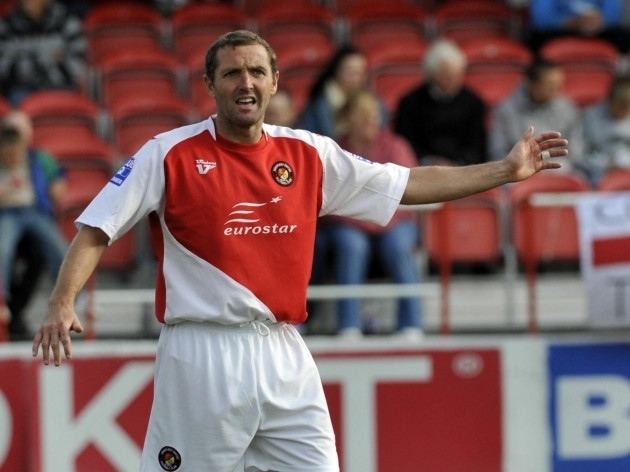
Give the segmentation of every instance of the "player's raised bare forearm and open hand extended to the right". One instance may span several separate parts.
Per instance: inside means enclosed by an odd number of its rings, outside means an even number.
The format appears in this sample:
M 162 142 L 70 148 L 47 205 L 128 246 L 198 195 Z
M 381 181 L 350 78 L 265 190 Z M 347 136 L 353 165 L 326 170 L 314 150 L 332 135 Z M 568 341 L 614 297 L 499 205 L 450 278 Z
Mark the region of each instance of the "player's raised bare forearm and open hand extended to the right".
M 550 157 L 566 156 L 567 145 L 567 140 L 556 131 L 535 137 L 530 127 L 500 161 L 460 167 L 414 167 L 401 203 L 418 205 L 455 200 L 527 179 L 544 169 L 557 169 L 560 164 L 543 159 L 543 151 Z

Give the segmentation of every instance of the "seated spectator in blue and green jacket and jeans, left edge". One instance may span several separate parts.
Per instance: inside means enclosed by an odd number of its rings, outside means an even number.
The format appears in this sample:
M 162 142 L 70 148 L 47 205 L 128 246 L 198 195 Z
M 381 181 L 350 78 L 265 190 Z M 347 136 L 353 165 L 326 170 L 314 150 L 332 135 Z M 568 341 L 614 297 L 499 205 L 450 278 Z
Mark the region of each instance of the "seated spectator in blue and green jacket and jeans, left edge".
M 0 280 L 3 300 L 11 306 L 12 267 L 24 236 L 39 248 L 53 277 L 57 275 L 66 243 L 53 218 L 64 192 L 61 170 L 51 156 L 29 150 L 28 142 L 12 126 L 0 128 Z M 24 328 L 14 321 L 14 330 Z

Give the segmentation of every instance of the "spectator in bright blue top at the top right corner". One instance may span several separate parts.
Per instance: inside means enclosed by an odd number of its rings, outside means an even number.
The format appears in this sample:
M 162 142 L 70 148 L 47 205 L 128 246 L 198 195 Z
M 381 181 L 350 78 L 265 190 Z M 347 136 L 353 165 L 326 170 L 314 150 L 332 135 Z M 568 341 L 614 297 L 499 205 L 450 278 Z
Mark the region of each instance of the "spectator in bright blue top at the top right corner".
M 534 51 L 566 35 L 602 38 L 622 52 L 630 45 L 629 31 L 622 24 L 623 0 L 531 0 L 529 13 Z

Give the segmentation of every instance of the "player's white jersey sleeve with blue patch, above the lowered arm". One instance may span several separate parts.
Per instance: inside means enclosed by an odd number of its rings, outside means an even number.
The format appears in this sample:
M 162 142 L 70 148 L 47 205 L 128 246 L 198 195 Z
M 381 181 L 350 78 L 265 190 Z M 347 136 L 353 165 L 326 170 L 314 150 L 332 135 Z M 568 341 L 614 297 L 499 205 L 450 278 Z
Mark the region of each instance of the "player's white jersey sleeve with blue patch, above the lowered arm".
M 160 209 L 164 182 L 163 152 L 159 140 L 152 139 L 114 174 L 76 224 L 100 228 L 111 244 L 142 217 Z

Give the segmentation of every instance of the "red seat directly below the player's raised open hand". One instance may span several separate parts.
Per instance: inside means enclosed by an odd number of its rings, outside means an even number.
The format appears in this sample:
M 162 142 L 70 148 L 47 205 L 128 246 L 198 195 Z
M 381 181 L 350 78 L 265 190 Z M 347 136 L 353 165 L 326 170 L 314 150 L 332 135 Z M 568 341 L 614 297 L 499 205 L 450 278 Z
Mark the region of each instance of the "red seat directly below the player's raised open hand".
M 579 238 L 573 206 L 533 206 L 536 193 L 583 192 L 588 184 L 571 174 L 541 173 L 510 189 L 516 253 L 526 264 L 577 262 Z M 529 261 L 529 262 L 528 262 Z

